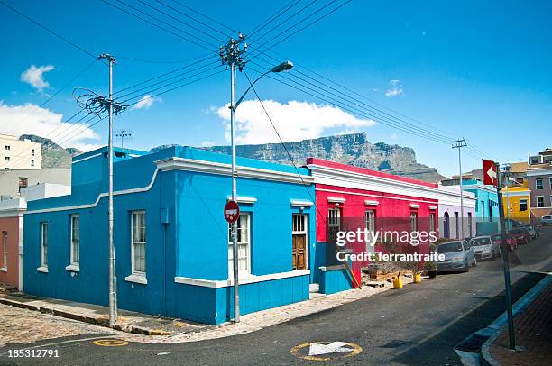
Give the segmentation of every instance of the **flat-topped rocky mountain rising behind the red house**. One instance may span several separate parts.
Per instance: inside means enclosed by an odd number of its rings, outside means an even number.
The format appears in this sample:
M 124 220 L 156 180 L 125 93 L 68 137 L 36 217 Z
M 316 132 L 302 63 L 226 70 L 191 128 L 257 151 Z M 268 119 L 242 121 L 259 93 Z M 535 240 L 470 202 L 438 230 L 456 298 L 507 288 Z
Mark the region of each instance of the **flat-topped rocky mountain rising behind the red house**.
M 437 182 L 446 178 L 439 174 L 437 169 L 417 162 L 413 149 L 388 145 L 384 142 L 372 143 L 368 141 L 365 133 L 320 137 L 301 142 L 285 142 L 285 147 L 299 166 L 303 165 L 307 158 L 313 157 L 427 182 Z M 202 149 L 225 154 L 231 153 L 230 146 L 212 146 Z M 281 143 L 238 145 L 236 154 L 244 158 L 290 164 L 290 158 Z

